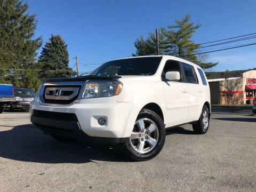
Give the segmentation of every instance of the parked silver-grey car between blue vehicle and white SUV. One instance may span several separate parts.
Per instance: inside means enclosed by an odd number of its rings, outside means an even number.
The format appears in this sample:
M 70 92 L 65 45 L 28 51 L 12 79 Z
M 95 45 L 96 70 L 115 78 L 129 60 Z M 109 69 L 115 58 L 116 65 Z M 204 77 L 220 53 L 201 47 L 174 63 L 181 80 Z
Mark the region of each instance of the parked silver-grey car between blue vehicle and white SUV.
M 9 111 L 13 109 L 29 110 L 30 102 L 34 100 L 36 93 L 30 89 L 14 88 L 15 102 L 9 107 Z

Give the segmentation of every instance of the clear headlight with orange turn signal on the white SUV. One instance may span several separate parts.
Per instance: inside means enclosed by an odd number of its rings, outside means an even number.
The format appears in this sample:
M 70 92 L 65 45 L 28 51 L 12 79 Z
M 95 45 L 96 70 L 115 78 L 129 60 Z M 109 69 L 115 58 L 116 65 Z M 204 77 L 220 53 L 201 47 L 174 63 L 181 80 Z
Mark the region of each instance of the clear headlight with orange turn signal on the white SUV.
M 111 97 L 121 93 L 123 84 L 119 81 L 92 81 L 86 82 L 82 98 Z

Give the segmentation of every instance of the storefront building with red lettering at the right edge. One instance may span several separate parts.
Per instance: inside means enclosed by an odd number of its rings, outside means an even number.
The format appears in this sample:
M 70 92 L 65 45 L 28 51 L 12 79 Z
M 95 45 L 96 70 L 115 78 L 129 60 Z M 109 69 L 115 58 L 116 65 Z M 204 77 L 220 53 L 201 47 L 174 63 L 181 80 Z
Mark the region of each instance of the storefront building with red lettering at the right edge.
M 212 104 L 252 104 L 256 97 L 256 70 L 246 71 L 242 77 L 208 79 L 208 82 Z

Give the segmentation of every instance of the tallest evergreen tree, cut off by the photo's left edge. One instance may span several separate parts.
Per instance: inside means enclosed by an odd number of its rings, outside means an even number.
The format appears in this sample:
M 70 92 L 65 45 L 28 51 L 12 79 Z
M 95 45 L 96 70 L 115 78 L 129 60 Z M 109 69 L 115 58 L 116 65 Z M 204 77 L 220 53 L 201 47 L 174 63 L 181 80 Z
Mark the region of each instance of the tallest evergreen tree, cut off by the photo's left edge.
M 32 39 L 36 15 L 27 10 L 28 4 L 22 1 L 0 0 L 0 83 L 36 90 L 40 66 L 35 58 L 42 37 Z

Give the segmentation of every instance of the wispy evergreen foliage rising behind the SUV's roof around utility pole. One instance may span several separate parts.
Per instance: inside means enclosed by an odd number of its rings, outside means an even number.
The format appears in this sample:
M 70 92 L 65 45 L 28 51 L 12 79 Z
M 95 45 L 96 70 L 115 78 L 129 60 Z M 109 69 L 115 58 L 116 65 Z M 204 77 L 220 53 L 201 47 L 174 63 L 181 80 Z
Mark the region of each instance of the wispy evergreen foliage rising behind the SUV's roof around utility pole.
M 205 62 L 207 55 L 204 57 L 196 55 L 200 44 L 196 44 L 191 40 L 195 30 L 201 27 L 201 25 L 194 25 L 190 22 L 191 15 L 187 14 L 182 17 L 181 20 L 175 20 L 174 25 L 169 25 L 166 28 L 159 30 L 159 52 L 160 54 L 173 55 L 188 59 L 194 63 L 197 63 L 204 69 L 212 68 L 218 64 L 212 62 Z M 135 55 L 152 55 L 156 54 L 156 37 L 154 33 L 149 33 L 149 37 L 146 41 L 137 39 L 134 43 L 136 47 Z M 139 45 L 139 46 L 138 46 Z M 153 51 L 154 50 L 154 51 Z M 141 54 L 143 53 L 143 54 Z M 206 57 L 205 57 L 206 55 Z M 203 58 L 203 59 L 202 59 Z

